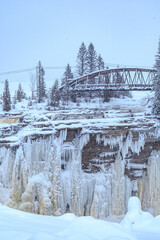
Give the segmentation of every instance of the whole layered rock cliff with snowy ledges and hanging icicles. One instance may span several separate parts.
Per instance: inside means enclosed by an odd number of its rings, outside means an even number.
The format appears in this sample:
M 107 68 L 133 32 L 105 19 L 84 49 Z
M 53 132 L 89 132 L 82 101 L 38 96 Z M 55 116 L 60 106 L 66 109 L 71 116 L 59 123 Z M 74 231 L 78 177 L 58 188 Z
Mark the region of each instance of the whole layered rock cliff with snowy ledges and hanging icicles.
M 7 205 L 104 219 L 126 213 L 130 196 L 138 196 L 144 210 L 160 214 L 158 128 L 151 116 L 125 114 L 62 121 L 46 113 L 2 126 L 0 193 L 10 190 Z

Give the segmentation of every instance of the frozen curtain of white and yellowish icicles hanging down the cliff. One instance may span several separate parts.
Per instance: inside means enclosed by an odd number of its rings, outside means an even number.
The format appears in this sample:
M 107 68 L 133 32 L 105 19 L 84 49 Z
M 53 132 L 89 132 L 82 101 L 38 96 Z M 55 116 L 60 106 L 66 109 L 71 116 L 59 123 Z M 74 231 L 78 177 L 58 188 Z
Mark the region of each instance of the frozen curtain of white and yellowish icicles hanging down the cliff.
M 147 171 L 142 166 L 138 177 L 126 174 L 126 168 L 134 168 L 127 156 L 141 153 L 145 134 L 138 134 L 136 140 L 131 132 L 115 137 L 94 135 L 99 149 L 103 146 L 101 158 L 116 156 L 110 162 L 98 160 L 101 170 L 96 173 L 82 169 L 82 150 L 91 137 L 83 131 L 72 140 L 67 139 L 65 129 L 34 141 L 28 137 L 17 148 L 0 148 L 0 193 L 10 191 L 7 205 L 39 214 L 73 212 L 104 219 L 124 214 L 130 196 L 137 195 L 143 208 L 160 214 L 160 152 L 152 151 Z M 104 152 L 104 147 L 112 152 Z

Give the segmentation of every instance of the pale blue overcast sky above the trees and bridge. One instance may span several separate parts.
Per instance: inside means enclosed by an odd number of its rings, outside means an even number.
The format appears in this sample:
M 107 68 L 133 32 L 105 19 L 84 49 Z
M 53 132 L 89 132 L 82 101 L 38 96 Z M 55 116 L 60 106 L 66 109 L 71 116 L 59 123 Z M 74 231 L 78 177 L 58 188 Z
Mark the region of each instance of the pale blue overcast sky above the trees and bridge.
M 92 42 L 105 63 L 153 66 L 160 1 L 1 0 L 0 33 L 0 73 L 35 67 L 39 60 L 44 67 L 75 66 L 82 41 Z M 63 72 L 46 70 L 46 81 Z M 23 86 L 29 72 L 0 75 L 0 82 L 6 78 Z

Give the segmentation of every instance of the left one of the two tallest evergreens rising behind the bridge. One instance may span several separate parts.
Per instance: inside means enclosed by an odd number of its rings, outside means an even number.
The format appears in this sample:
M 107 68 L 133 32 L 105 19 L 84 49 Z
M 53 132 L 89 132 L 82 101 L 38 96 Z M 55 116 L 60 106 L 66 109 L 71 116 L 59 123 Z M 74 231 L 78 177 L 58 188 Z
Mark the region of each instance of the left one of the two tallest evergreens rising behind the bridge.
M 77 73 L 83 76 L 87 72 L 87 48 L 82 42 L 77 55 Z

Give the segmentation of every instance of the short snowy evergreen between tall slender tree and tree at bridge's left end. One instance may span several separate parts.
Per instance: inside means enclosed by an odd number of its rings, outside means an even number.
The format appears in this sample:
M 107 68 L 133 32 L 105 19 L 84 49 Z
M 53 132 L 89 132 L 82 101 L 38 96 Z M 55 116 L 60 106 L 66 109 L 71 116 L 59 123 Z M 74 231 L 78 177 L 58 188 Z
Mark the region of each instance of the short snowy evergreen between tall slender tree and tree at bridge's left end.
M 50 105 L 53 107 L 58 107 L 60 101 L 60 93 L 58 87 L 58 79 L 55 81 L 50 93 Z

